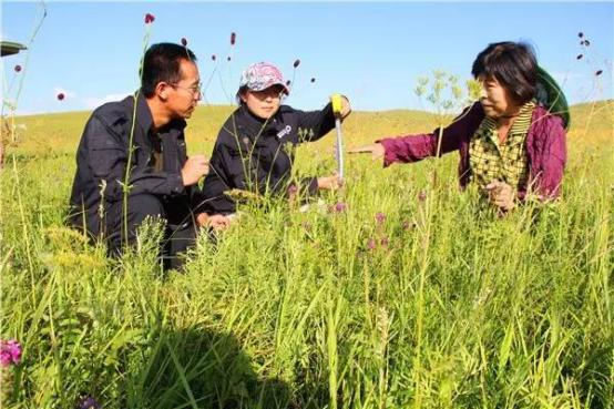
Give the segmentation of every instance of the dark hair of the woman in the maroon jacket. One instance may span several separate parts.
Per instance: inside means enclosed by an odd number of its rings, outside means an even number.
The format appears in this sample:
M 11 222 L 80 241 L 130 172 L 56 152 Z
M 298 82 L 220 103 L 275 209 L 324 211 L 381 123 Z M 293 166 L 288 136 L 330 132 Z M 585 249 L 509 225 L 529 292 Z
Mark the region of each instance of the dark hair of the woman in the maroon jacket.
M 519 104 L 535 96 L 538 59 L 528 44 L 511 41 L 489 44 L 473 61 L 471 73 L 475 79 L 495 78 Z

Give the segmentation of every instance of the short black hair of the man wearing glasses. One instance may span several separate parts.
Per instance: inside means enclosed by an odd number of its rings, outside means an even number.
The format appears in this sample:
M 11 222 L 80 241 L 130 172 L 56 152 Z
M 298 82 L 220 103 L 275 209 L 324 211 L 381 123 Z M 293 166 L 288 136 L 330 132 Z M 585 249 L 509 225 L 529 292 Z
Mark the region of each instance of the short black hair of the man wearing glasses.
M 181 60 L 196 61 L 186 47 L 170 42 L 153 44 L 143 57 L 141 91 L 146 98 L 155 93 L 160 82 L 177 83 L 182 80 Z

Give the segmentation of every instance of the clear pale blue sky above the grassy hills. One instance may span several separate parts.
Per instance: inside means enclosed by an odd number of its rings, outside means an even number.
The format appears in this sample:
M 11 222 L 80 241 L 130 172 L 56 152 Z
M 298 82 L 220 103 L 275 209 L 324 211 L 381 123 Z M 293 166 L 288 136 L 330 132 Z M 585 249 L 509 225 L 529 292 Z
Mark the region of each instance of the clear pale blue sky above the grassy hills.
M 0 7 L 2 38 L 28 43 L 40 3 Z M 47 12 L 29 53 L 2 59 L 3 99 L 18 114 L 91 110 L 134 91 L 146 31 L 150 44 L 186 38 L 203 82 L 216 54 L 206 90 L 215 104 L 233 101 L 247 64 L 270 61 L 291 79 L 300 59 L 286 101 L 295 108 L 320 108 L 332 92 L 356 110 L 428 108 L 413 92 L 420 76 L 469 79 L 475 55 L 505 40 L 532 44 L 572 103 L 613 98 L 613 2 L 48 2 Z

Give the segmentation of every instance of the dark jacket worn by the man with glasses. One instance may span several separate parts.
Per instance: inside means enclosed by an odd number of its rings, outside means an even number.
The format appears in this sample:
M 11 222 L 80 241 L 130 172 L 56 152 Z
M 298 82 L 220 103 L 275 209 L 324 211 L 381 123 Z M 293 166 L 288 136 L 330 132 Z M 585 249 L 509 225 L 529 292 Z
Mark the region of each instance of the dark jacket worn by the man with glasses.
M 78 227 L 85 224 L 92 235 L 98 235 L 102 227 L 100 209 L 121 202 L 124 196 L 123 183 L 133 116 L 136 121 L 130 157 L 129 193 L 183 198 L 193 207 L 201 201 L 197 186 L 184 187 L 181 176 L 187 159 L 183 133 L 185 121 L 174 120 L 153 133 L 153 117 L 143 96 L 137 98 L 136 110 L 133 96 L 106 103 L 92 113 L 81 136 L 70 198 L 70 222 Z M 156 143 L 162 146 L 157 150 L 162 151 L 163 167 L 160 171 L 154 168 Z

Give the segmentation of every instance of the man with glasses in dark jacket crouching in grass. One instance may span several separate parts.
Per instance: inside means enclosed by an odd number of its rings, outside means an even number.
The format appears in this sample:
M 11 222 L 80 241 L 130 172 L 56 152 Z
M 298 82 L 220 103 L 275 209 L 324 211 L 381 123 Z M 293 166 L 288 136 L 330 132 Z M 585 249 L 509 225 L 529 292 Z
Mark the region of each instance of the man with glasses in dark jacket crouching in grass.
M 195 61 L 185 47 L 152 45 L 143 59 L 141 90 L 98 108 L 85 125 L 70 223 L 105 239 L 113 255 L 134 242 L 145 218 L 162 218 L 165 267 L 177 267 L 175 256 L 193 244 L 197 226 L 228 224 L 202 208 L 197 182 L 208 172 L 205 156 L 186 156 L 185 120 L 202 96 Z

